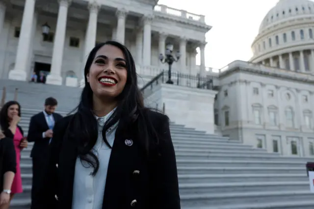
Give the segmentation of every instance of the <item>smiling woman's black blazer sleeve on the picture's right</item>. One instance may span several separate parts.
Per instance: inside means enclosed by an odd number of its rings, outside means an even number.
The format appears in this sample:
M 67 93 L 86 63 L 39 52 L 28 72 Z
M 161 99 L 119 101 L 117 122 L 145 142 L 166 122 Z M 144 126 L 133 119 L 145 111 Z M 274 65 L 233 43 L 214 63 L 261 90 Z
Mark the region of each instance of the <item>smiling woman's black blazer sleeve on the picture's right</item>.
M 152 209 L 181 209 L 177 163 L 172 143 L 169 118 L 160 114 L 158 119 L 158 147 L 150 176 L 153 183 Z

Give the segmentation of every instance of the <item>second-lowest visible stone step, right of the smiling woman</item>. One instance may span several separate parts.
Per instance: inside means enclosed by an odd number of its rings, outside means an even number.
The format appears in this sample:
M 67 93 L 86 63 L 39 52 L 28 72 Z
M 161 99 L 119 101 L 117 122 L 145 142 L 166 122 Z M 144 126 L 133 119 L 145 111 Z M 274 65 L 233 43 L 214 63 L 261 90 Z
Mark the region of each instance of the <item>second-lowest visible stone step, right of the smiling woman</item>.
M 292 190 L 292 191 L 259 191 L 259 192 L 224 192 L 224 193 L 208 193 L 208 194 L 186 194 L 181 195 L 181 205 L 185 207 L 198 207 L 205 206 L 219 206 L 226 204 L 255 204 L 264 203 L 276 203 L 290 200 L 312 200 L 313 194 L 309 190 Z

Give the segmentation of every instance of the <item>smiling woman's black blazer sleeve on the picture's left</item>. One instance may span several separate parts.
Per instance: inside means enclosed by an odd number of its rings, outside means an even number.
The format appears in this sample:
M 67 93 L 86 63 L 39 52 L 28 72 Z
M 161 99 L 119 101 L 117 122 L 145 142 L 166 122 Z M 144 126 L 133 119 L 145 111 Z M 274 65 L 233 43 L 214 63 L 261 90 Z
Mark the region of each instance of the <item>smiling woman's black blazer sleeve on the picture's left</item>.
M 57 205 L 57 199 L 55 198 L 58 189 L 57 164 L 65 127 L 64 121 L 61 119 L 55 123 L 53 128 L 53 137 L 49 146 L 49 159 L 45 181 L 40 192 L 40 200 L 42 201 L 41 206 L 45 209 L 55 209 Z

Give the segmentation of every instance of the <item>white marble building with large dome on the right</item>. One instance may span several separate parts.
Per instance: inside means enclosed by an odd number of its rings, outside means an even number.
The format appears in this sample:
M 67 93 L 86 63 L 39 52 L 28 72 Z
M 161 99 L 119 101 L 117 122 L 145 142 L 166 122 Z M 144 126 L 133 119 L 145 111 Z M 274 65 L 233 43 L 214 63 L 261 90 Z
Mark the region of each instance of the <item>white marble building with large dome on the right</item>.
M 284 156 L 314 156 L 314 2 L 279 0 L 249 62 L 215 78 L 216 132 Z

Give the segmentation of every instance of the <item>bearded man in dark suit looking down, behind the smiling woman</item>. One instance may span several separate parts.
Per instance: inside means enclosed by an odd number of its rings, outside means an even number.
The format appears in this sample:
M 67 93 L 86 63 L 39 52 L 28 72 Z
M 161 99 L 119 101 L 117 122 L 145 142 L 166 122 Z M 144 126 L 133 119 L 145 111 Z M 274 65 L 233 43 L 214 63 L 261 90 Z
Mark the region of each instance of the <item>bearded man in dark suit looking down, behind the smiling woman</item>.
M 55 122 L 62 118 L 60 114 L 54 113 L 57 104 L 56 99 L 52 97 L 47 98 L 44 111 L 30 118 L 27 140 L 28 142 L 34 142 L 30 153 L 33 162 L 31 209 L 38 209 L 36 196 L 38 197 L 38 189 L 42 181 L 44 181 L 45 166 L 48 163 L 49 144 L 53 135 L 52 130 Z

